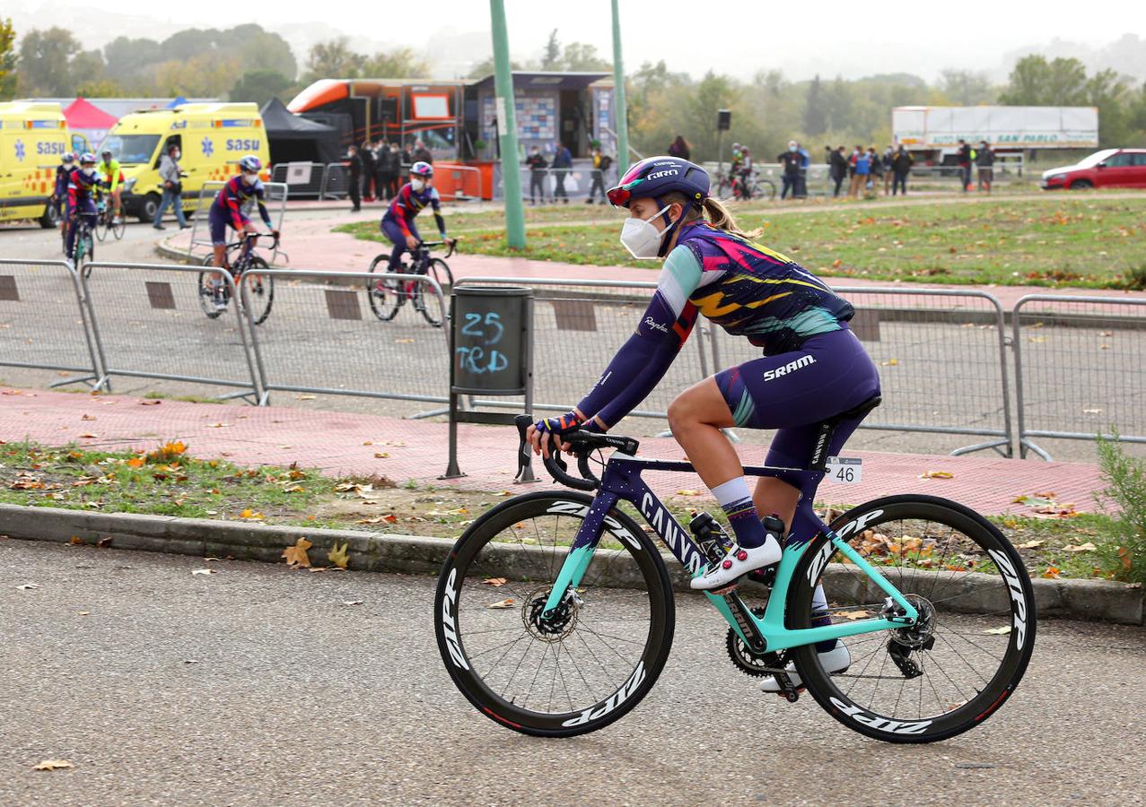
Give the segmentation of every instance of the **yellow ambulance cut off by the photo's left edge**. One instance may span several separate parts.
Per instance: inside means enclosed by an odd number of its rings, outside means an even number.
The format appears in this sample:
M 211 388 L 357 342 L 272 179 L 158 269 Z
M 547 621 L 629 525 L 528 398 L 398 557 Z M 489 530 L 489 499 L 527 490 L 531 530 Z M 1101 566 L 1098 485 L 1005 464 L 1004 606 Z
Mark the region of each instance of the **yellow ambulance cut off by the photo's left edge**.
M 68 130 L 60 104 L 0 102 L 0 221 L 33 219 L 52 227 L 56 166 L 68 151 L 87 149 L 84 135 Z

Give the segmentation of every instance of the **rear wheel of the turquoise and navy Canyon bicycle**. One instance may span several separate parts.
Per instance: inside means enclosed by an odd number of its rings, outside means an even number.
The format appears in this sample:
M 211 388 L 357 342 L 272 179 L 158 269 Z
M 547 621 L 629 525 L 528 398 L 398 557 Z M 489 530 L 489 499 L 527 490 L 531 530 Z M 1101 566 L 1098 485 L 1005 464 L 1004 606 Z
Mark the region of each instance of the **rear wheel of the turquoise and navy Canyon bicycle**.
M 911 627 L 841 640 L 850 665 L 831 675 L 815 646 L 794 650 L 808 691 L 848 728 L 893 743 L 947 739 L 989 718 L 1014 693 L 1035 644 L 1035 594 L 1019 553 L 963 505 L 893 496 L 831 525 L 919 611 Z M 813 601 L 816 583 L 823 603 Z M 794 572 L 791 627 L 816 617 L 874 617 L 882 590 L 817 536 Z

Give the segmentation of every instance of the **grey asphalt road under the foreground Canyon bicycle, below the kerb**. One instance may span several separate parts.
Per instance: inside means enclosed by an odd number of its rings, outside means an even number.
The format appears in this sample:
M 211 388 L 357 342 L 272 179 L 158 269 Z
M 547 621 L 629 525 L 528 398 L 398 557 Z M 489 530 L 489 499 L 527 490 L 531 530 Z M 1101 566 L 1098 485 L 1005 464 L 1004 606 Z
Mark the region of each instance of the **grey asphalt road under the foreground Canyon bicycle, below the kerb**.
M 218 573 L 191 575 L 211 567 Z M 37 584 L 36 588 L 19 588 Z M 1141 804 L 1146 633 L 1039 624 L 1015 696 L 927 746 L 761 695 L 677 598 L 652 693 L 583 737 L 454 689 L 434 579 L 0 539 L 0 804 Z M 361 604 L 345 604 L 361 601 Z M 46 759 L 74 767 L 37 772 Z

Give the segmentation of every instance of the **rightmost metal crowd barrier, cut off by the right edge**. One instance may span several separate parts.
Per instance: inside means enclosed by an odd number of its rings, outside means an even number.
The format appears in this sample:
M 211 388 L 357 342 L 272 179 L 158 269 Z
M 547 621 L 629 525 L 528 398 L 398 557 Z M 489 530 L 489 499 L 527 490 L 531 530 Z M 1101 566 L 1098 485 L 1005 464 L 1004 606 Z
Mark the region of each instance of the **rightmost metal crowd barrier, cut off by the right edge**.
M 1109 438 L 1110 427 L 1146 443 L 1146 300 L 1028 294 L 1012 325 L 1020 456 L 1050 460 L 1035 437 Z

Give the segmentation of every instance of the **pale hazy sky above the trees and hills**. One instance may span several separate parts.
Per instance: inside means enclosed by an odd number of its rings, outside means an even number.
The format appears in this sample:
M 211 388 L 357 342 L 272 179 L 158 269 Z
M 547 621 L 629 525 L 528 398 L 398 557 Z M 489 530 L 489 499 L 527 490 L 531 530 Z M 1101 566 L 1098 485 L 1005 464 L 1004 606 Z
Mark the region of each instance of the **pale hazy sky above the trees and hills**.
M 17 30 L 53 24 L 83 27 L 84 38 L 94 46 L 120 34 L 162 38 L 180 27 L 257 22 L 282 33 L 300 62 L 314 41 L 344 33 L 362 50 L 408 45 L 427 55 L 444 77 L 465 73 L 466 65 L 490 53 L 489 5 L 484 0 L 329 6 L 195 0 L 155 3 L 154 11 L 151 6 L 126 0 L 103 0 L 99 7 L 92 0 L 25 0 L 5 14 L 11 14 Z M 329 9 L 329 17 L 316 21 L 315 8 Z M 505 0 L 505 9 L 513 58 L 536 57 L 554 27 L 563 42 L 588 42 L 606 57 L 612 54 L 609 0 Z M 861 16 L 863 23 L 857 25 Z M 85 24 L 77 26 L 76 21 Z M 1124 33 L 1146 37 L 1140 0 L 1106 0 L 1089 8 L 1062 0 L 921 5 L 621 0 L 621 23 L 629 69 L 662 58 L 669 69 L 694 76 L 714 70 L 741 78 L 779 69 L 790 78 L 905 71 L 934 79 L 944 68 L 983 70 L 1002 78 L 1014 50 L 1055 38 L 1101 46 Z

